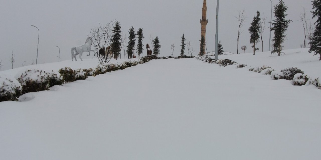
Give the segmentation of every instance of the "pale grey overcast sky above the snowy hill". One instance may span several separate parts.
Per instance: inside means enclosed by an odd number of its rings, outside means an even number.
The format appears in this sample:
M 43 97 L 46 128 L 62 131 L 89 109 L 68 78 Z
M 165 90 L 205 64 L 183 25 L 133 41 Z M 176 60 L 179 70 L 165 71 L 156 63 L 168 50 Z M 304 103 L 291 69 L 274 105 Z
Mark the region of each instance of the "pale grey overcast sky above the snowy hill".
M 272 0 L 273 5 L 279 0 Z M 311 20 L 311 0 L 284 0 L 288 5 L 287 19 L 291 22 L 284 49 L 300 48 L 303 44 L 302 24 L 298 21 L 303 7 Z M 170 55 L 170 44 L 175 44 L 175 55 L 180 51 L 183 34 L 191 41 L 194 55 L 199 52 L 203 0 L 4 0 L 0 5 L 0 60 L 1 70 L 11 68 L 10 57 L 15 55 L 14 68 L 22 63 L 36 62 L 38 30 L 40 30 L 38 64 L 71 59 L 71 48 L 84 44 L 87 34 L 99 23 L 116 19 L 128 36 L 129 28 L 143 28 L 143 44 L 151 43 L 150 36 L 159 37 L 160 56 Z M 216 1 L 207 0 L 207 51 L 214 51 Z M 269 0 L 223 0 L 219 11 L 219 40 L 224 50 L 236 53 L 239 11 L 245 9 L 247 19 L 240 36 L 240 46 L 251 52 L 248 28 L 256 10 L 270 20 Z M 273 20 L 273 17 L 272 17 Z M 313 20 L 314 22 L 315 20 Z M 269 25 L 268 25 L 269 26 Z M 273 33 L 272 33 L 273 37 Z M 269 29 L 265 29 L 264 51 L 268 50 Z M 128 40 L 127 40 L 128 42 Z M 144 46 L 145 47 L 145 46 Z M 146 50 L 144 50 L 145 54 Z M 187 52 L 187 51 L 186 51 Z M 239 51 L 240 52 L 240 51 Z M 92 54 L 93 55 L 93 54 Z M 123 55 L 123 53 L 122 53 Z M 93 58 L 83 56 L 85 58 Z

